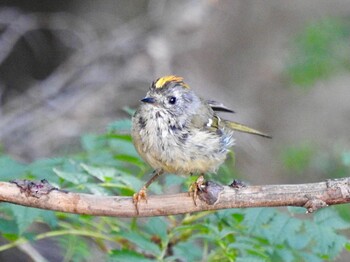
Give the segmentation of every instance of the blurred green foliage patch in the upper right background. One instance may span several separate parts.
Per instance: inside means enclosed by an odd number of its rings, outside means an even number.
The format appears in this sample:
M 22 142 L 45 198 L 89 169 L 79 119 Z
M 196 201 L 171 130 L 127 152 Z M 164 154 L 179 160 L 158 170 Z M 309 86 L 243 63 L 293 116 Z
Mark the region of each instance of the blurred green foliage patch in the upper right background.
M 349 70 L 349 24 L 325 19 L 305 27 L 295 41 L 287 75 L 300 87 L 310 87 L 340 70 Z

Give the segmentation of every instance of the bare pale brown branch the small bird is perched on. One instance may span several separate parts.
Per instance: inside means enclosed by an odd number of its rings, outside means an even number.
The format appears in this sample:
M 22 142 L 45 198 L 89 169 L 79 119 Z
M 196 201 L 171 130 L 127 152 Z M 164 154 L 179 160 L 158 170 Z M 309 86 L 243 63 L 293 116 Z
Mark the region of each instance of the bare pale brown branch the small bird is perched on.
M 131 197 L 96 196 L 60 190 L 32 195 L 18 185 L 7 182 L 0 182 L 0 201 L 74 214 L 116 217 L 166 216 L 204 210 L 276 206 L 300 206 L 313 212 L 323 206 L 350 202 L 349 183 L 350 178 L 298 185 L 239 188 L 209 183 L 199 193 L 197 206 L 187 193 L 156 195 L 149 196 L 147 203 L 139 203 L 139 214 L 136 213 Z

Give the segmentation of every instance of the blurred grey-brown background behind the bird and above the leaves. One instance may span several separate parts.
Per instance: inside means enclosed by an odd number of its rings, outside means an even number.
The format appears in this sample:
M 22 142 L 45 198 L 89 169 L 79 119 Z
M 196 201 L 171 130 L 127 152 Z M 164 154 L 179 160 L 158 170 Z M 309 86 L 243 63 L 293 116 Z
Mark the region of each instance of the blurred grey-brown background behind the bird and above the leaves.
M 1 151 L 23 163 L 79 152 L 176 74 L 273 137 L 237 133 L 225 182 L 348 176 L 349 14 L 346 0 L 3 0 Z

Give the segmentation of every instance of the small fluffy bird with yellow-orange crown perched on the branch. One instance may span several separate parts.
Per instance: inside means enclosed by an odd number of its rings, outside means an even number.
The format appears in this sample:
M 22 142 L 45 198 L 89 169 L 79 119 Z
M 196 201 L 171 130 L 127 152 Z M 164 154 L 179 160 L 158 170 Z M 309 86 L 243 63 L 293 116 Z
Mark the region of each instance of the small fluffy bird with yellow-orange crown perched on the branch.
M 216 112 L 234 113 L 222 103 L 203 100 L 183 81 L 169 75 L 155 80 L 132 118 L 137 152 L 154 169 L 153 176 L 133 196 L 147 202 L 147 188 L 163 173 L 215 172 L 234 144 L 234 130 L 268 137 L 245 125 L 221 119 Z M 202 179 L 200 179 L 202 181 Z M 194 186 L 195 193 L 197 186 Z

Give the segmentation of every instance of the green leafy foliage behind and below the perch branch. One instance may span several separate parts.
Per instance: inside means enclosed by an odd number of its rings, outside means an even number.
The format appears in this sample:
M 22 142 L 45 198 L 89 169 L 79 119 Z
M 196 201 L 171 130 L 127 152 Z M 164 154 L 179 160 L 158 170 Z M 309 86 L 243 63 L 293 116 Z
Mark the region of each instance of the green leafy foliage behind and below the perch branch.
M 130 136 L 122 133 L 129 127 L 129 121 L 118 121 L 109 126 L 107 134 L 82 137 L 83 151 L 70 158 L 24 165 L 2 156 L 1 180 L 46 178 L 74 192 L 132 195 L 150 170 L 135 152 Z M 294 148 L 287 155 L 309 159 L 313 152 L 309 151 Z M 348 165 L 348 153 L 341 159 Z M 291 168 L 304 167 L 305 160 L 300 162 Z M 180 186 L 184 180 L 167 175 L 163 182 L 166 187 Z M 162 192 L 158 183 L 151 190 Z M 91 259 L 91 245 L 108 261 L 322 261 L 334 259 L 344 248 L 349 250 L 348 239 L 339 233 L 350 224 L 333 208 L 307 217 L 299 210 L 232 209 L 137 220 L 2 204 L 0 230 L 8 244 L 0 246 L 0 251 L 47 238 L 57 241 L 65 261 Z M 48 230 L 37 231 L 33 224 Z

